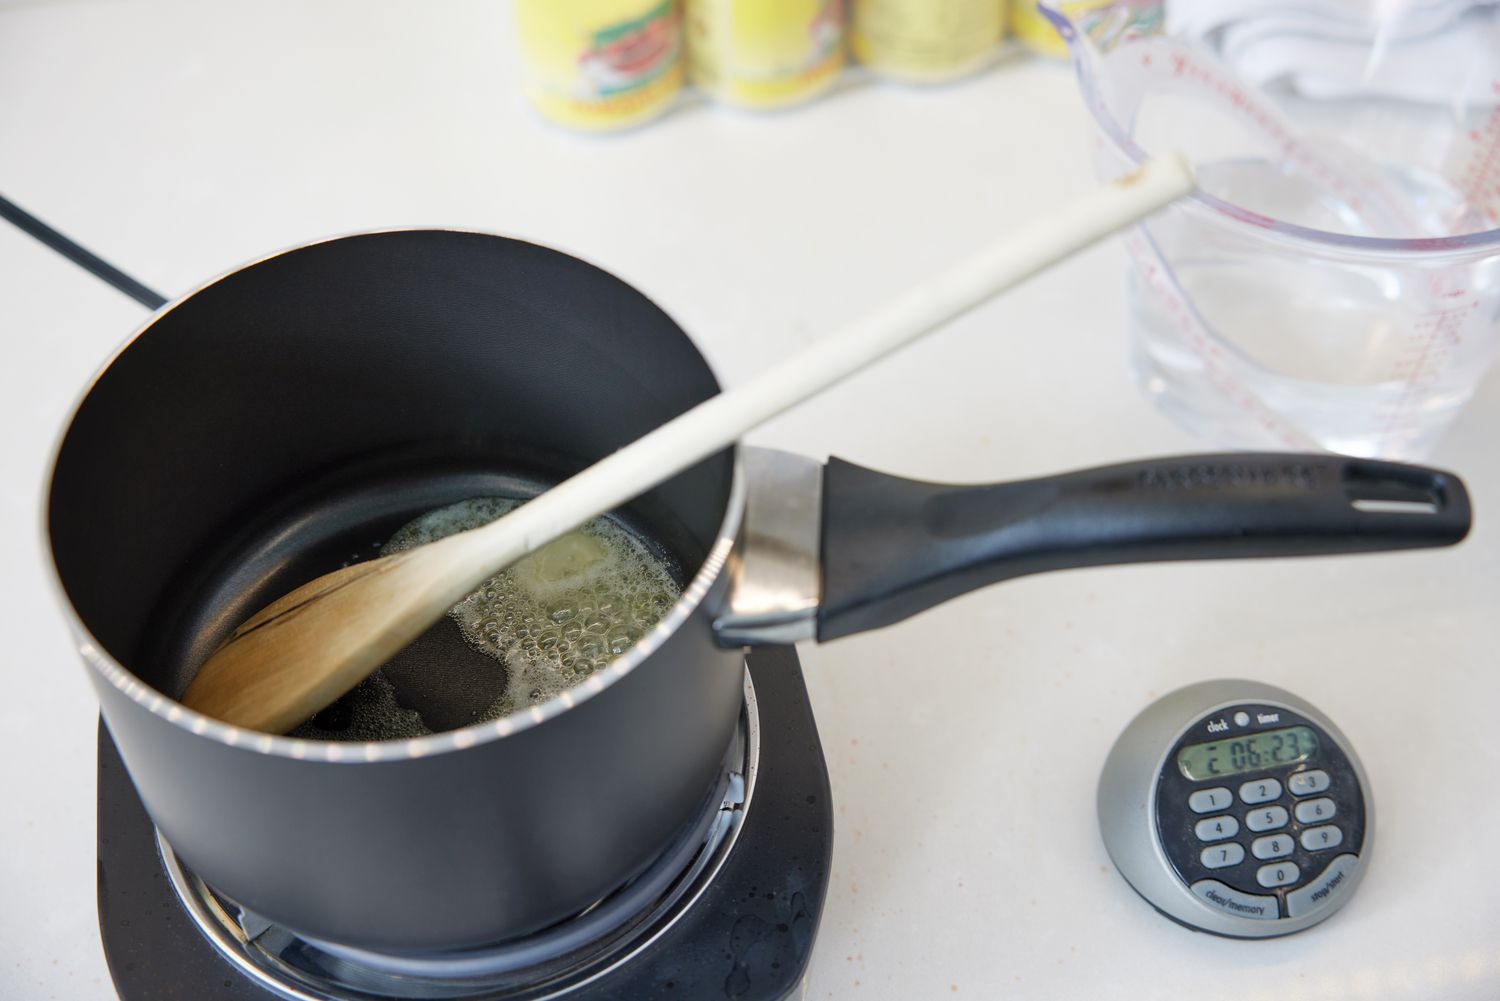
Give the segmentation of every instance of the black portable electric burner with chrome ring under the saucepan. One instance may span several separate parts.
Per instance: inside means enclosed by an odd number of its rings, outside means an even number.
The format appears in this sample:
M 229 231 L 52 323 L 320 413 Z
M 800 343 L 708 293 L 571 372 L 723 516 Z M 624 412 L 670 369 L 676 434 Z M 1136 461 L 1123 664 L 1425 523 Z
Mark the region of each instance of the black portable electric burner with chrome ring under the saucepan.
M 99 927 L 122 1001 L 776 1001 L 806 974 L 831 852 L 828 770 L 790 647 L 746 657 L 720 782 L 645 872 L 486 950 L 372 953 L 240 906 L 177 860 L 99 728 Z

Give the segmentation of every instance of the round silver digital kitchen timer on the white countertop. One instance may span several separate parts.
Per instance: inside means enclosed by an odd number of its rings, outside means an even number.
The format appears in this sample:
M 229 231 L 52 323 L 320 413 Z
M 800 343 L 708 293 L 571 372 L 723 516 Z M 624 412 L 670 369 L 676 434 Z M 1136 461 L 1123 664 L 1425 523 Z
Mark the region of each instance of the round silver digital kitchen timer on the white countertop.
M 1120 875 L 1204 932 L 1270 938 L 1344 905 L 1374 843 L 1348 740 L 1258 681 L 1203 681 L 1146 707 L 1100 777 L 1100 830 Z

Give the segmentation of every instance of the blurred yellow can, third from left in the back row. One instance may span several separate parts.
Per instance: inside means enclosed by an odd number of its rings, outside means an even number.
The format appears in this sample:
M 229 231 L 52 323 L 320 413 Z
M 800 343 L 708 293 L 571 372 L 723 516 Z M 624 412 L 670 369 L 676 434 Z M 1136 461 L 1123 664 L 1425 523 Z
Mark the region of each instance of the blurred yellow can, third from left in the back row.
M 1005 0 L 854 0 L 849 39 L 872 72 L 942 83 L 984 66 L 1005 32 Z

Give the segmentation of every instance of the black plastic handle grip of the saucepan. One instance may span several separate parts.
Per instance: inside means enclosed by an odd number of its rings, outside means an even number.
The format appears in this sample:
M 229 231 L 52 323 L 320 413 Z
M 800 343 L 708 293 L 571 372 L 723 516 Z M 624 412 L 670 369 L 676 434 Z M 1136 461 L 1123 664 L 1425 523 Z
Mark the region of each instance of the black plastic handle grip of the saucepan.
M 984 486 L 830 459 L 818 638 L 1026 573 L 1450 546 L 1468 524 L 1452 473 L 1336 455 L 1191 455 Z

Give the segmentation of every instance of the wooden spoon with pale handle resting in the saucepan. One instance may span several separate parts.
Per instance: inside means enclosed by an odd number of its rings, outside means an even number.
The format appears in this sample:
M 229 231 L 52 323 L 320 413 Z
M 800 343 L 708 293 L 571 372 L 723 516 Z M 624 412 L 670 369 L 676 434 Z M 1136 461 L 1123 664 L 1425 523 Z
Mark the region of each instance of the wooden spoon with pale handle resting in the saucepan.
M 1191 189 L 1182 158 L 1154 159 L 750 383 L 674 417 L 504 518 L 298 587 L 234 630 L 198 669 L 183 704 L 248 729 L 291 729 L 358 684 L 490 575 Z

